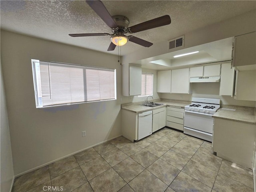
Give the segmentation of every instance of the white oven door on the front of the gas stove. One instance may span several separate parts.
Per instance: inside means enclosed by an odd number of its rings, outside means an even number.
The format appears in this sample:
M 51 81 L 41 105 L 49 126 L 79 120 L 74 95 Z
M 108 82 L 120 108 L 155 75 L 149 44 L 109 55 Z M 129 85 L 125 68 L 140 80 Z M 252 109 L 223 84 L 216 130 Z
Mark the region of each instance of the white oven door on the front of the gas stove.
M 184 127 L 200 130 L 212 134 L 213 118 L 212 114 L 186 111 L 184 114 Z

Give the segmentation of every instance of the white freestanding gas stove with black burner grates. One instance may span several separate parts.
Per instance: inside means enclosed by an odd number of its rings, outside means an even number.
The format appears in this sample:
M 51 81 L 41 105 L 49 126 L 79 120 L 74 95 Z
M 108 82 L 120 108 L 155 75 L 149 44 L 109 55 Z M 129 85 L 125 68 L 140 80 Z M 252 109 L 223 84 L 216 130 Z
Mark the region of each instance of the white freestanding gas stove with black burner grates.
M 185 106 L 184 134 L 212 142 L 213 117 L 220 108 L 220 99 L 192 98 Z

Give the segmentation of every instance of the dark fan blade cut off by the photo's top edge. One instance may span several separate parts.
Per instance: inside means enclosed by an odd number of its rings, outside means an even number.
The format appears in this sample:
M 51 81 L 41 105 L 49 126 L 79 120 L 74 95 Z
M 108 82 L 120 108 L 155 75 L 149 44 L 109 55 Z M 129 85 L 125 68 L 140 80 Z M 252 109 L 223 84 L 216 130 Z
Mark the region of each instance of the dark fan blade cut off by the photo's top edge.
M 108 10 L 101 1 L 98 0 L 86 0 L 86 3 L 100 16 L 100 18 L 110 27 L 117 28 L 116 22 L 109 14 Z

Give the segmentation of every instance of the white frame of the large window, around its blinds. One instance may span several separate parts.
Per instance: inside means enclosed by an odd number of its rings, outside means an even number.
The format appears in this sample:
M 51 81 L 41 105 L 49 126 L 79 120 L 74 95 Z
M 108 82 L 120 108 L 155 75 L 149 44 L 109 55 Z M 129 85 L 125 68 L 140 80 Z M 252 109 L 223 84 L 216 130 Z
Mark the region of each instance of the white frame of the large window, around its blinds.
M 83 101 L 83 102 L 68 102 L 68 103 L 62 103 L 62 104 L 52 104 L 52 105 L 47 105 L 43 106 L 43 103 L 41 101 L 38 101 L 38 92 L 40 85 L 41 84 L 41 79 L 40 79 L 40 71 L 36 70 L 36 63 L 38 66 L 40 66 L 40 62 L 45 62 L 45 61 L 40 61 L 36 59 L 31 59 L 31 64 L 32 64 L 32 75 L 33 75 L 33 84 L 34 84 L 34 95 L 35 95 L 35 101 L 36 101 L 36 108 L 48 108 L 48 107 L 54 107 L 54 106 L 65 106 L 65 105 L 72 105 L 72 104 L 82 104 L 82 103 L 91 103 L 91 102 L 101 102 L 101 101 L 110 101 L 110 100 L 116 100 L 117 99 L 117 93 L 116 93 L 116 69 L 111 69 L 111 68 L 103 68 L 103 67 L 95 67 L 95 66 L 85 66 L 85 65 L 78 65 L 78 64 L 70 64 L 70 63 L 62 63 L 62 62 L 47 62 L 47 63 L 52 63 L 52 64 L 62 64 L 62 65 L 68 65 L 68 66 L 80 66 L 81 68 L 95 68 L 97 70 L 113 70 L 114 72 L 114 98 L 112 99 L 104 99 L 104 100 L 93 100 L 93 101 Z M 83 76 L 85 78 L 85 76 Z M 39 80 L 39 82 L 37 81 Z M 86 85 L 85 85 L 86 86 Z M 86 90 L 84 90 L 86 92 Z

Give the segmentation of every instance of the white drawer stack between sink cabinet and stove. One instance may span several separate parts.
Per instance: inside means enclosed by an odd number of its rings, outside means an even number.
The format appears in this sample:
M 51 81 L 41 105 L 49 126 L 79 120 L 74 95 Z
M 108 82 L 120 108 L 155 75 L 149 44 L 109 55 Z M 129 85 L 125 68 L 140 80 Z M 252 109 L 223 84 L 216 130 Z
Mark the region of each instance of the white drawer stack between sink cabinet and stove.
M 168 106 L 166 126 L 182 130 L 184 129 L 184 108 Z

